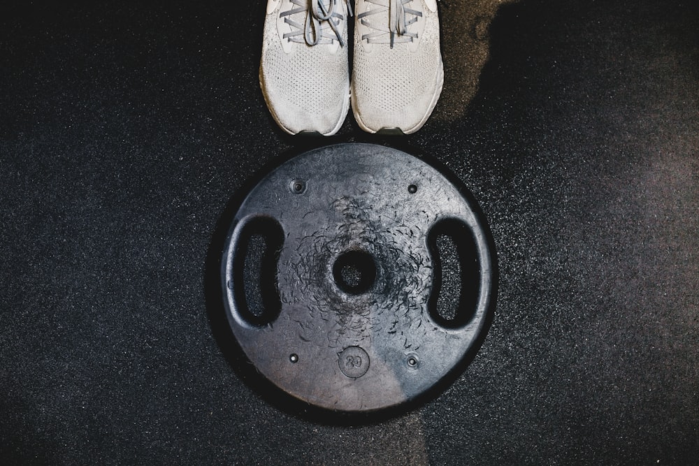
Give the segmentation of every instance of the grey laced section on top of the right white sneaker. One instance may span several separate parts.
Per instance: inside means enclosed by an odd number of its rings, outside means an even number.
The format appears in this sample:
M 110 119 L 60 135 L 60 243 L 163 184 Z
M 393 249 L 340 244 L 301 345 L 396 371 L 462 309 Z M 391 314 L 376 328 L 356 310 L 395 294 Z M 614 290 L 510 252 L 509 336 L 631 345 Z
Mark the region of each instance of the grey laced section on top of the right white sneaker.
M 367 3 L 373 3 L 380 8 L 372 8 L 357 16 L 361 24 L 372 29 L 371 32 L 362 34 L 361 40 L 367 43 L 389 43 L 393 48 L 394 43 L 412 42 L 417 39 L 417 32 L 412 32 L 408 28 L 417 22 L 422 12 L 408 8 L 407 5 L 411 1 L 366 0 Z M 388 15 L 388 21 L 385 14 Z M 381 19 L 377 17 L 378 15 L 381 15 Z M 370 16 L 374 18 L 369 18 Z

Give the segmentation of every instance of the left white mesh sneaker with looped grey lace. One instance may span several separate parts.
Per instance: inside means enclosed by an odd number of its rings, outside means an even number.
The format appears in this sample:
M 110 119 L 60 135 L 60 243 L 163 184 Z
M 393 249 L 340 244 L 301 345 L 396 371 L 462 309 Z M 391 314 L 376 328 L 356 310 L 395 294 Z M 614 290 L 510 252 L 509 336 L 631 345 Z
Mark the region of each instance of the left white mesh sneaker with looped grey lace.
M 335 134 L 349 109 L 345 0 L 268 0 L 260 86 L 289 134 Z

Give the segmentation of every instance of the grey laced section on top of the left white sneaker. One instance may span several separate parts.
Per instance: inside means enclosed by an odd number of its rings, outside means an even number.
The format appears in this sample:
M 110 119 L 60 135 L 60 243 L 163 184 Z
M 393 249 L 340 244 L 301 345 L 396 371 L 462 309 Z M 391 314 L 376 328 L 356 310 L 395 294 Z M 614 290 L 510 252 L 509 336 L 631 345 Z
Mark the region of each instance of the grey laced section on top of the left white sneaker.
M 348 0 L 291 0 L 291 9 L 282 11 L 279 15 L 292 28 L 291 32 L 287 32 L 282 38 L 308 45 L 331 44 L 338 41 L 340 46 L 345 47 L 345 40 L 338 29 L 340 22 L 345 20 L 338 11 L 340 1 L 345 1 L 347 13 L 352 16 L 352 6 Z M 303 23 L 292 19 L 293 15 L 301 13 L 305 13 Z M 329 27 L 324 27 L 324 24 L 328 24 Z

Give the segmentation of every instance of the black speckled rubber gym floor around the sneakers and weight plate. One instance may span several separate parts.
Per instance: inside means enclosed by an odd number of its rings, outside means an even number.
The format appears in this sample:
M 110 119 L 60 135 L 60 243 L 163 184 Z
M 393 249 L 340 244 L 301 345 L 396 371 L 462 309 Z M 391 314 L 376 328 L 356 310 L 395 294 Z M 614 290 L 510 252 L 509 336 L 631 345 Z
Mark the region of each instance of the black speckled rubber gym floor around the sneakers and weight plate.
M 388 140 L 473 191 L 500 292 L 450 388 L 356 426 L 261 397 L 215 336 L 231 196 L 299 145 L 385 142 L 282 136 L 243 3 L 0 7 L 2 462 L 696 464 L 696 2 L 503 6 L 468 108 Z

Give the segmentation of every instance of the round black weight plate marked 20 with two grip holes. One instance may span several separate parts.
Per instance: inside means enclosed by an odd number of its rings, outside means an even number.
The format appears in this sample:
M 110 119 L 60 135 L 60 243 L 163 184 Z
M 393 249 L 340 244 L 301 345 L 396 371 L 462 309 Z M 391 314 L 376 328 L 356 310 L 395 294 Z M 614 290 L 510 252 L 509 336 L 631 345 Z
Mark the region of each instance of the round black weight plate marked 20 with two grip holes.
M 476 212 L 463 188 L 405 152 L 344 144 L 296 156 L 250 191 L 226 242 L 240 347 L 318 407 L 414 400 L 463 368 L 487 331 L 494 252 Z M 452 312 L 440 310 L 445 293 L 458 295 Z

